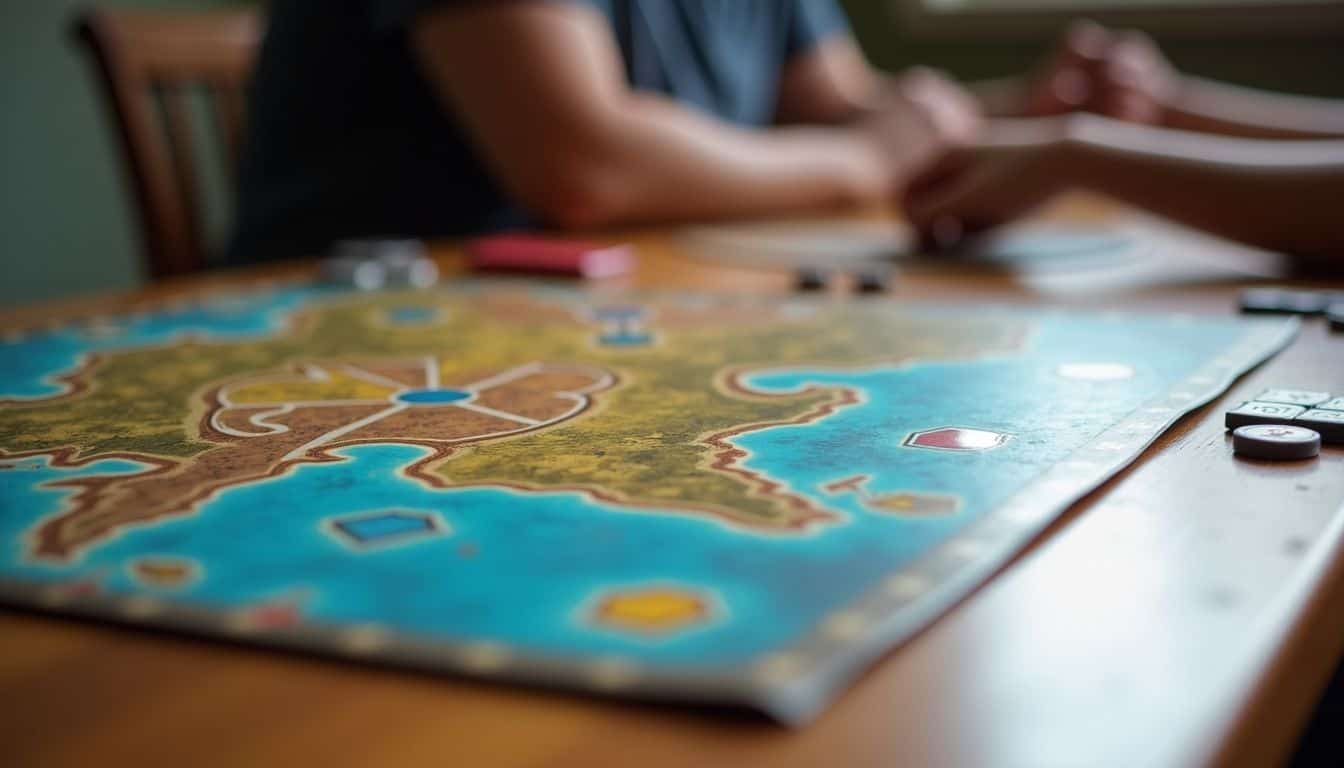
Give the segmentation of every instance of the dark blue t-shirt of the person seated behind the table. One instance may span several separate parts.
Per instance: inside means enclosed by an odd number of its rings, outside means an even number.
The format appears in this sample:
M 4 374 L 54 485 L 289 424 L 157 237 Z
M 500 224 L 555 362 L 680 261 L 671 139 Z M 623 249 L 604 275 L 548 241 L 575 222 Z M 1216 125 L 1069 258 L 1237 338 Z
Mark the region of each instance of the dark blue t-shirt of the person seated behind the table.
M 270 3 L 230 261 L 528 225 L 410 50 L 417 13 L 462 1 Z M 633 87 L 743 125 L 769 124 L 788 59 L 845 23 L 835 0 L 574 1 L 607 19 Z

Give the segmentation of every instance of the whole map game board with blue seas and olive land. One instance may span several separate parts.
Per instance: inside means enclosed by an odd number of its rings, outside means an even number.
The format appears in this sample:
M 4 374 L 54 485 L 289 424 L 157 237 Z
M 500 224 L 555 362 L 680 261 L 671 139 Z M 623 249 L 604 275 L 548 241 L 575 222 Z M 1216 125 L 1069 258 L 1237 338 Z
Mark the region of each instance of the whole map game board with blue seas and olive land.
M 0 596 L 801 722 L 1294 328 L 458 281 L 11 331 Z

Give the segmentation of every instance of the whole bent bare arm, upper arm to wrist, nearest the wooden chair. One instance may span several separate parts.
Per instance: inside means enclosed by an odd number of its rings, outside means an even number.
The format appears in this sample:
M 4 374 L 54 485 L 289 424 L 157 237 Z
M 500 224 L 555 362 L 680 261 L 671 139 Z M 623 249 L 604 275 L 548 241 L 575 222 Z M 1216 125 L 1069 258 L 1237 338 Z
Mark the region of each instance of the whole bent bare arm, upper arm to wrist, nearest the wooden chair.
M 454 4 L 422 16 L 413 36 L 500 186 L 559 226 L 785 213 L 891 191 L 894 164 L 866 122 L 751 129 L 632 90 L 606 20 L 582 4 Z

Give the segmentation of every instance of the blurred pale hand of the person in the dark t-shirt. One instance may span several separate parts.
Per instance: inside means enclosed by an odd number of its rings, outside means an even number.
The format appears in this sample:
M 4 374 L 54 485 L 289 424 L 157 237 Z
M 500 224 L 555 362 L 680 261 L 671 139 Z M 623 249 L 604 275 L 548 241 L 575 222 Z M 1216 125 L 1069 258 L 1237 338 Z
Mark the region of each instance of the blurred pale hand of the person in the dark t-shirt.
M 976 141 L 984 117 L 976 98 L 956 81 L 915 67 L 892 81 L 862 129 L 890 159 L 894 178 L 903 182 L 949 149 Z

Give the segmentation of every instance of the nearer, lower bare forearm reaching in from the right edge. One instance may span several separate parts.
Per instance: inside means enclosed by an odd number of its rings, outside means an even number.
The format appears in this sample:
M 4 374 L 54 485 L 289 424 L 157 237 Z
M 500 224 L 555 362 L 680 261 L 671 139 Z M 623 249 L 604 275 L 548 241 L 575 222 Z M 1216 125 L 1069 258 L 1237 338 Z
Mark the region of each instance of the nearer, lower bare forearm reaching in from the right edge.
M 1071 182 L 1232 239 L 1344 256 L 1344 141 L 1257 141 L 1079 121 Z

